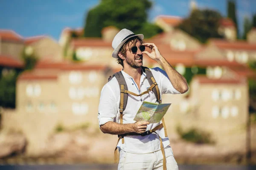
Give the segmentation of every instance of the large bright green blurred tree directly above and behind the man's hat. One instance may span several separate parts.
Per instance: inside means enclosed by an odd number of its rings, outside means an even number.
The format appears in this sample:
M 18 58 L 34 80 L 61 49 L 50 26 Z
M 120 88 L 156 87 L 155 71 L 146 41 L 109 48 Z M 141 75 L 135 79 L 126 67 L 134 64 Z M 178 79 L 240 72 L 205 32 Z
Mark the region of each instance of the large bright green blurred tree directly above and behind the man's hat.
M 145 38 L 151 37 L 162 31 L 147 21 L 151 6 L 150 0 L 101 0 L 87 13 L 84 37 L 101 37 L 106 26 L 127 28 L 135 34 L 143 31 Z

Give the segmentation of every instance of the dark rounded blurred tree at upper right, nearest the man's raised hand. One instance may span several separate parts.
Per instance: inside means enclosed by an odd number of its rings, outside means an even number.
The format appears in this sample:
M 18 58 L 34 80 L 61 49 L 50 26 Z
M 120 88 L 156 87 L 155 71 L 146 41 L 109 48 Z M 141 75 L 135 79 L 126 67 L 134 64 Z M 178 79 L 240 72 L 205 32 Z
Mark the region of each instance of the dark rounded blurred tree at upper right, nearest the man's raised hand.
M 209 38 L 223 38 L 218 33 L 221 14 L 218 11 L 209 9 L 191 12 L 188 18 L 185 18 L 177 28 L 185 31 L 200 42 L 205 43 Z

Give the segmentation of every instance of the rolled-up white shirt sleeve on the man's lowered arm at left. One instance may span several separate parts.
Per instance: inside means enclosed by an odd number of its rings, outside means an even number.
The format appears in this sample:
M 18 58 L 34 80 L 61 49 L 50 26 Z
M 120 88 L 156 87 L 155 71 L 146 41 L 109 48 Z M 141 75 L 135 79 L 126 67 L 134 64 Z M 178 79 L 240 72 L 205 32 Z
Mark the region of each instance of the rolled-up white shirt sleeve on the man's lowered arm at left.
M 99 126 L 104 125 L 107 122 L 113 122 L 116 117 L 117 110 L 116 97 L 109 85 L 106 84 L 102 88 L 99 99 Z

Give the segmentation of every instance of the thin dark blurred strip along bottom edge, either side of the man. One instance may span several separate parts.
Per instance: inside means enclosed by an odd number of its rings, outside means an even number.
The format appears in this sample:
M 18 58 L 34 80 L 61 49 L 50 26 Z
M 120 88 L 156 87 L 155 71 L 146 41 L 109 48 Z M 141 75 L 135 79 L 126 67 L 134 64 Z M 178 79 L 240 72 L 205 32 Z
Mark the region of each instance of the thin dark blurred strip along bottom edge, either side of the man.
M 76 165 L 0 165 L 0 170 L 117 170 L 117 164 Z M 179 165 L 179 170 L 256 170 L 253 166 L 236 165 Z

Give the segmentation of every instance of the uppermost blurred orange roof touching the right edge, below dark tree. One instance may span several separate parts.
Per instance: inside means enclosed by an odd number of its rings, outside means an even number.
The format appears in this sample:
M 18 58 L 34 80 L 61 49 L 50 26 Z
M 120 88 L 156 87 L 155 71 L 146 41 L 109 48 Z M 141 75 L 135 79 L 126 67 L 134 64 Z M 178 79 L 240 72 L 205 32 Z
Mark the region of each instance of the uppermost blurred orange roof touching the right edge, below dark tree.
M 230 42 L 222 39 L 210 39 L 209 43 L 216 45 L 221 49 L 253 50 L 256 51 L 256 44 L 250 44 L 246 41 Z

